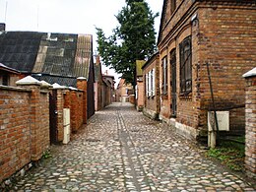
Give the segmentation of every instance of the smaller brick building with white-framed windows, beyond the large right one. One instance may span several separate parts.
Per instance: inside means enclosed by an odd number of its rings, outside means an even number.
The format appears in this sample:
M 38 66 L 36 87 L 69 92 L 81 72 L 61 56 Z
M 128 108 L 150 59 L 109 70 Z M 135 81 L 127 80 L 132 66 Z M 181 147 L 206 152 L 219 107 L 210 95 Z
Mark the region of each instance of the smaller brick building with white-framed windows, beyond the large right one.
M 159 119 L 160 115 L 160 55 L 156 52 L 143 65 L 144 108 L 146 116 Z

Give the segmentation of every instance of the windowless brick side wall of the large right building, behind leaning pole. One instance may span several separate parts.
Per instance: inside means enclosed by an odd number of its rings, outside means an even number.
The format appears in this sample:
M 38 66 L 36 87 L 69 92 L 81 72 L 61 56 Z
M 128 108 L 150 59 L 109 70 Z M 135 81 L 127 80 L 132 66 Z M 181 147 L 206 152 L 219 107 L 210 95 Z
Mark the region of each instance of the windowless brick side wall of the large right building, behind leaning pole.
M 206 5 L 198 11 L 198 57 L 200 69 L 197 84 L 201 108 L 211 106 L 206 63 L 210 64 L 217 108 L 232 108 L 230 130 L 244 130 L 244 81 L 242 75 L 256 62 L 255 9 L 242 6 Z M 196 46 L 196 45 L 195 45 Z M 227 109 L 229 110 L 229 109 Z M 206 122 L 206 114 L 201 122 Z

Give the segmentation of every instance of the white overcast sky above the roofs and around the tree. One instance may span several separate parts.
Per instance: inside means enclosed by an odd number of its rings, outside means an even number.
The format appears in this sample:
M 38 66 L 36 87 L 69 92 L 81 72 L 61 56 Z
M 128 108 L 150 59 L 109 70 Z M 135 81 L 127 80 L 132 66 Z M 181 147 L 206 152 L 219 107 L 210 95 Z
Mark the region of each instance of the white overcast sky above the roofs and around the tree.
M 146 1 L 154 13 L 161 13 L 163 0 Z M 111 34 L 124 5 L 125 0 L 0 0 L 0 23 L 6 23 L 6 31 L 93 34 L 96 50 L 96 27 Z M 160 16 L 155 24 L 159 32 Z M 117 81 L 113 70 L 108 75 Z

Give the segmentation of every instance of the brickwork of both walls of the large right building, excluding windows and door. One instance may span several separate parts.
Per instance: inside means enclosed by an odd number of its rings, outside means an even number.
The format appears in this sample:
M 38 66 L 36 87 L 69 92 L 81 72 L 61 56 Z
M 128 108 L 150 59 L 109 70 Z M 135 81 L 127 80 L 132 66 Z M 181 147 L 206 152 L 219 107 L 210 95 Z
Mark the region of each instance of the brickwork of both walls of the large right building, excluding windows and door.
M 241 76 L 256 62 L 256 12 L 250 4 L 208 1 L 177 1 L 160 32 L 160 61 L 167 56 L 168 94 L 161 96 L 160 116 L 168 121 L 171 112 L 171 69 L 169 53 L 176 49 L 177 115 L 175 122 L 188 129 L 207 130 L 207 110 L 212 107 L 206 63 L 210 64 L 214 96 L 218 110 L 229 110 L 230 130 L 244 131 L 244 81 Z M 191 22 L 197 14 L 196 20 Z M 176 25 L 178 24 L 179 25 Z M 192 93 L 180 95 L 179 43 L 192 36 Z M 160 63 L 161 64 L 161 63 Z M 161 85 L 160 68 L 160 85 Z M 202 132 L 203 133 L 203 132 Z M 197 135 L 197 133 L 194 134 Z

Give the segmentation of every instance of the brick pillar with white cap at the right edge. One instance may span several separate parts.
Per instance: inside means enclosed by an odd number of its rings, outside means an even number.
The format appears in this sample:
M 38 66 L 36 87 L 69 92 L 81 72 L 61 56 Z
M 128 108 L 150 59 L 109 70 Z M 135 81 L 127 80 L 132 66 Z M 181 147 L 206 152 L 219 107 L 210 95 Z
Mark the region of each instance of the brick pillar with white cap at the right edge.
M 245 88 L 245 167 L 256 177 L 256 68 L 244 74 Z

